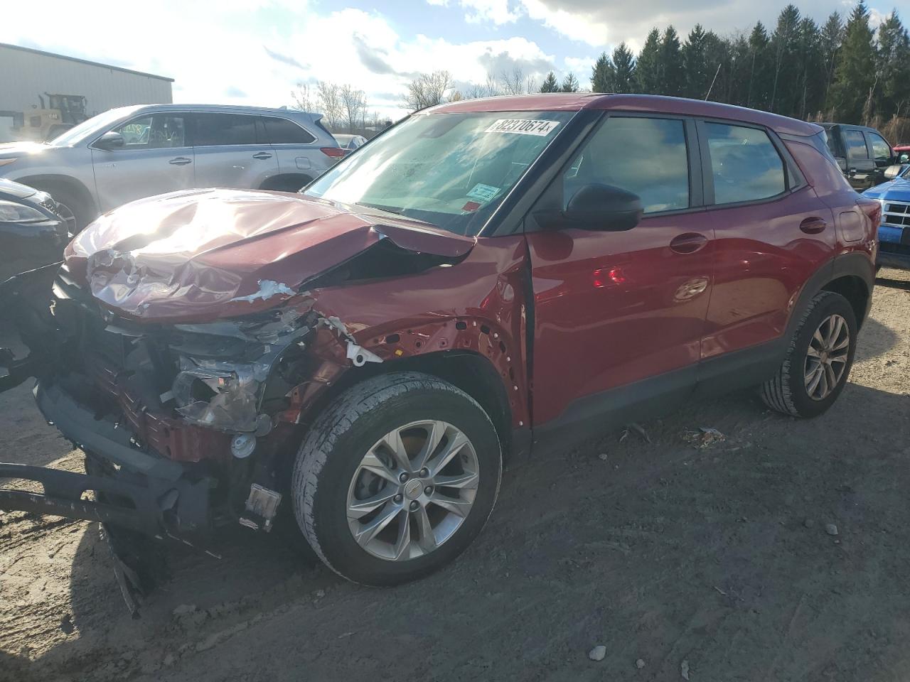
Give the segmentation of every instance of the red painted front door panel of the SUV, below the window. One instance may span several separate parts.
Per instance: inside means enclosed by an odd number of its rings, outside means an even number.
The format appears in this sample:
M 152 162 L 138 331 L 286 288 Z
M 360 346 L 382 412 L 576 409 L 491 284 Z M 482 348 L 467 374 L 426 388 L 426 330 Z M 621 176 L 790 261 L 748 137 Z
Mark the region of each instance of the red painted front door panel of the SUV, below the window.
M 713 245 L 678 254 L 670 242 L 688 233 L 710 237 L 707 224 L 699 211 L 647 217 L 628 232 L 528 235 L 534 424 L 578 397 L 698 362 Z

